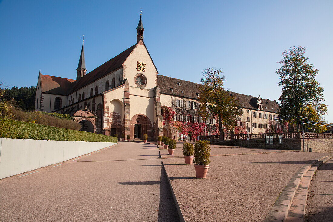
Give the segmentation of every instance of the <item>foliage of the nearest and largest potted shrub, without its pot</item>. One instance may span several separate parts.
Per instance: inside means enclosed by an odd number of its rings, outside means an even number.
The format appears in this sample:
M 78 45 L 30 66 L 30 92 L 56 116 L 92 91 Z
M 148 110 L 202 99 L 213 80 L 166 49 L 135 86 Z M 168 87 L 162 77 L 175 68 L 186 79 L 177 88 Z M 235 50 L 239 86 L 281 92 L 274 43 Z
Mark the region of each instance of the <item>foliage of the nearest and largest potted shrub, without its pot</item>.
M 209 165 L 210 162 L 210 142 L 199 140 L 194 144 L 194 160 L 198 165 Z

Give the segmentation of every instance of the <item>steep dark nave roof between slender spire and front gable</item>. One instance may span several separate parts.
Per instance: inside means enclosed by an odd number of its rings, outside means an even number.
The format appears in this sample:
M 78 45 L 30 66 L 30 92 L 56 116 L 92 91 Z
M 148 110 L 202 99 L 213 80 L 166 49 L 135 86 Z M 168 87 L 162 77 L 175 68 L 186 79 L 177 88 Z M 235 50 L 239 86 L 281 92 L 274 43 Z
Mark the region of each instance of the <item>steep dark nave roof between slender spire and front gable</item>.
M 140 43 L 140 42 L 139 42 Z M 123 63 L 127 59 L 127 57 L 131 54 L 133 49 L 139 44 L 136 43 L 135 45 L 131 46 L 130 48 L 126 49 L 124 52 L 118 54 L 117 56 L 113 57 L 106 63 L 100 65 L 93 71 L 87 73 L 86 75 L 82 76 L 81 79 L 74 85 L 72 90 L 69 92 L 75 92 L 76 90 L 94 82 L 95 80 L 105 76 L 106 74 L 115 71 L 123 66 Z

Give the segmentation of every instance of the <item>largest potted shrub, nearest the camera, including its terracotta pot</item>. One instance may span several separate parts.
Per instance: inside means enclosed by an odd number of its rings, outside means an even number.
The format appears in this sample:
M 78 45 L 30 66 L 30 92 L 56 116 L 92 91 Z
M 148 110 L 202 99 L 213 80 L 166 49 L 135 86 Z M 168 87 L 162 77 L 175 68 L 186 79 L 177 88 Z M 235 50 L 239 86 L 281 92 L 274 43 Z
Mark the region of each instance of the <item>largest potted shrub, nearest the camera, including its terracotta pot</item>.
M 196 178 L 206 178 L 210 162 L 210 142 L 199 140 L 194 144 L 194 167 Z

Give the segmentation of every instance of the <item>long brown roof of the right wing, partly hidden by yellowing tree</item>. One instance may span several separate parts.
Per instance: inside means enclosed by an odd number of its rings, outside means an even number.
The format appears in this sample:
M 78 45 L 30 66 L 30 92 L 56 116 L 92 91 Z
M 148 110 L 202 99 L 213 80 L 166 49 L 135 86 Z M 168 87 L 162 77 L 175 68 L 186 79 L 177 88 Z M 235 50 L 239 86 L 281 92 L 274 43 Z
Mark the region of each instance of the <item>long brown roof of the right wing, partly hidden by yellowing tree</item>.
M 180 83 L 180 86 L 178 85 Z M 200 92 L 200 84 L 189 82 L 181 79 L 176 79 L 168 76 L 157 75 L 157 84 L 160 87 L 160 93 L 179 96 L 179 97 L 186 97 L 190 99 L 198 100 L 199 97 L 197 93 Z M 173 88 L 173 92 L 170 90 Z M 239 100 L 240 106 L 242 108 L 247 109 L 258 109 L 257 108 L 257 97 L 244 95 L 240 93 L 230 92 L 232 95 L 236 96 Z M 268 112 L 277 112 L 279 109 L 279 105 L 275 101 L 261 99 L 263 103 L 263 111 Z M 267 104 L 268 103 L 268 104 Z M 267 109 L 265 108 L 267 107 Z

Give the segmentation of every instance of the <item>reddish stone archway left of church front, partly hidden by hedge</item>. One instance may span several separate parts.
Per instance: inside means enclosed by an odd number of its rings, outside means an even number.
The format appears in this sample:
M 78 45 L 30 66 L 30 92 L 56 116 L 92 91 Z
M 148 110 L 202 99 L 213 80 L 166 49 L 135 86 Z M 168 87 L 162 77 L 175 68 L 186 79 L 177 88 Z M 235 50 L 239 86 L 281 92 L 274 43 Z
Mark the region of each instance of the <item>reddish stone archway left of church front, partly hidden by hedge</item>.
M 81 123 L 83 131 L 96 133 L 97 115 L 88 109 L 80 109 L 74 113 L 74 121 Z

